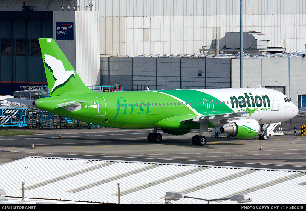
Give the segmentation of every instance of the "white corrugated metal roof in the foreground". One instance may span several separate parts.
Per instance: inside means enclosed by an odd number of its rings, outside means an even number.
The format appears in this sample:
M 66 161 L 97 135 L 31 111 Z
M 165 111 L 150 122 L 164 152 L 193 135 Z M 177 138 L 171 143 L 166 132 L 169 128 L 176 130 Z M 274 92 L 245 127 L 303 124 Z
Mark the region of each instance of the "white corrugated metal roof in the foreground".
M 121 204 L 165 203 L 167 191 L 205 199 L 251 194 L 253 201 L 245 204 L 306 203 L 302 171 L 30 156 L 0 165 L 0 172 L 0 189 L 11 201 L 21 197 L 25 182 L 25 197 L 31 202 L 39 198 L 117 203 L 120 183 Z M 171 202 L 207 203 L 191 198 Z

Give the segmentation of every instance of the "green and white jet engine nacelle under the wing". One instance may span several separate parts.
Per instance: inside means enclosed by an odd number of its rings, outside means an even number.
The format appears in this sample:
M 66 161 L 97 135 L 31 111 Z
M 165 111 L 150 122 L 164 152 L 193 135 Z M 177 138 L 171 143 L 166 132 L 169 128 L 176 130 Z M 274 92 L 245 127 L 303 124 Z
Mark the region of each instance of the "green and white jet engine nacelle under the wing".
M 222 133 L 230 134 L 239 139 L 252 139 L 257 136 L 259 130 L 259 122 L 251 118 L 233 118 L 220 128 Z

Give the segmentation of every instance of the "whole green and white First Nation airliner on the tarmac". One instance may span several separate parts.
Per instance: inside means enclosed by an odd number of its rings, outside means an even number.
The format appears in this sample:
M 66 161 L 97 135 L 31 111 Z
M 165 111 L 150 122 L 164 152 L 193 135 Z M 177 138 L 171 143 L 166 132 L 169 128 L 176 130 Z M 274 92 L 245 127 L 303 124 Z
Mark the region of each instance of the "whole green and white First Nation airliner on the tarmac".
M 9 99 L 60 116 L 112 128 L 151 129 L 147 139 L 159 143 L 164 133 L 183 135 L 199 129 L 192 144 L 205 145 L 203 132 L 220 131 L 239 139 L 259 135 L 262 125 L 289 120 L 298 113 L 281 92 L 265 88 L 95 92 L 84 85 L 51 38 L 39 39 L 50 97 Z

